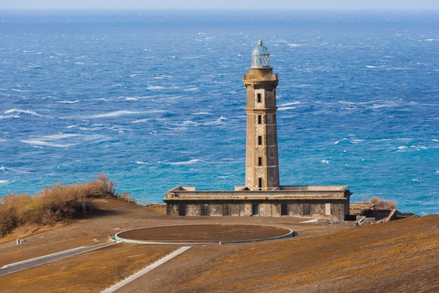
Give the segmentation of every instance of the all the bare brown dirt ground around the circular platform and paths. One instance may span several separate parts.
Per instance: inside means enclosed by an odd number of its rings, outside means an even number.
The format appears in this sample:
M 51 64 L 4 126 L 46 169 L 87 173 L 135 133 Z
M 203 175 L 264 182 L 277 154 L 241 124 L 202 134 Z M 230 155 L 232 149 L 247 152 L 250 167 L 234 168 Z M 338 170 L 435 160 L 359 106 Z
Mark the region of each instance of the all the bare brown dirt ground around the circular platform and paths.
M 257 224 L 299 231 L 266 242 L 193 245 L 117 292 L 439 292 L 439 215 L 371 226 L 292 217 L 179 217 L 99 199 L 99 210 L 0 240 L 0 266 L 108 241 L 116 232 L 181 224 Z M 26 243 L 15 244 L 15 238 Z M 94 239 L 99 240 L 94 241 Z M 100 292 L 176 245 L 117 244 L 0 276 L 1 292 Z

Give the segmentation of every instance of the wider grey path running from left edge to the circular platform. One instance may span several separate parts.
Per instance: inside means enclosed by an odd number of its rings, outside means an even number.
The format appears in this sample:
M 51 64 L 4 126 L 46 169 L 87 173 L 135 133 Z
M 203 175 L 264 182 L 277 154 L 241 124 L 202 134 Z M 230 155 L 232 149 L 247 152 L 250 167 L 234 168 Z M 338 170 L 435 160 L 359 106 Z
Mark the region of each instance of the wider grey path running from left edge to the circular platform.
M 24 269 L 29 269 L 29 268 L 32 268 L 35 266 L 46 264 L 46 263 L 49 263 L 49 262 L 52 262 L 55 260 L 59 260 L 62 258 L 73 256 L 73 255 L 78 255 L 78 254 L 81 254 L 84 252 L 94 251 L 94 250 L 97 250 L 97 249 L 100 249 L 103 247 L 114 245 L 116 243 L 118 243 L 118 242 L 111 241 L 111 242 L 101 243 L 101 244 L 90 246 L 90 247 L 82 246 L 82 247 L 78 247 L 78 248 L 74 248 L 74 249 L 51 253 L 51 254 L 23 260 L 20 262 L 4 265 L 3 267 L 0 268 L 0 276 L 11 273 L 11 272 L 18 272 L 18 271 L 21 271 Z

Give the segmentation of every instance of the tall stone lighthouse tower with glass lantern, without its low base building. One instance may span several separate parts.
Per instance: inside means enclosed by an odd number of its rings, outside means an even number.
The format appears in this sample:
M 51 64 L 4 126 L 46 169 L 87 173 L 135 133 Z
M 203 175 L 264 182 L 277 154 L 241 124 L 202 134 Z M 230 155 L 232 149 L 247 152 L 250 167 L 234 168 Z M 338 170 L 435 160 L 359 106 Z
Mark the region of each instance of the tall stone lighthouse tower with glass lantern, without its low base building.
M 270 53 L 259 40 L 252 51 L 252 66 L 244 74 L 247 89 L 247 141 L 245 187 L 279 188 L 276 87 L 278 75 L 270 67 Z

